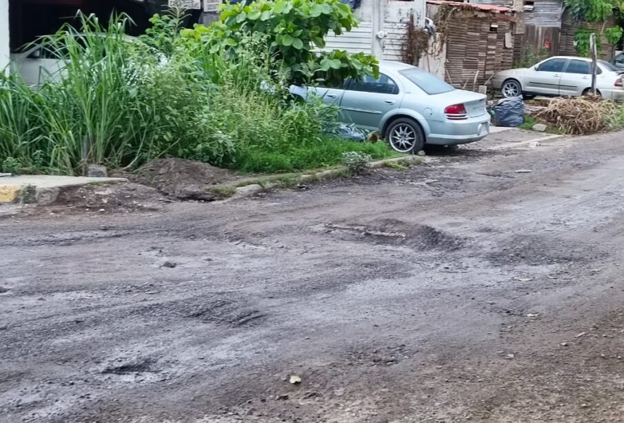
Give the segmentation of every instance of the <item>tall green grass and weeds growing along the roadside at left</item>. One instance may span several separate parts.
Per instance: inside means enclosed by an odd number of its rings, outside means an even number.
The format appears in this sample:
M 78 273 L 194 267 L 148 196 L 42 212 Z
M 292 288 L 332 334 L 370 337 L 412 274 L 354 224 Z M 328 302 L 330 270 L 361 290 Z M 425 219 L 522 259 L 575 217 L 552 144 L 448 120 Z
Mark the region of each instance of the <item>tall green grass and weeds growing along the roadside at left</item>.
M 261 39 L 230 57 L 172 30 L 179 17 L 154 17 L 140 39 L 126 37 L 123 15 L 106 27 L 80 18 L 81 28 L 39 41 L 63 70 L 37 87 L 0 77 L 0 163 L 80 175 L 85 164 L 132 169 L 174 156 L 258 173 L 332 165 L 352 150 L 392 155 L 326 135 L 337 110 L 294 102 Z

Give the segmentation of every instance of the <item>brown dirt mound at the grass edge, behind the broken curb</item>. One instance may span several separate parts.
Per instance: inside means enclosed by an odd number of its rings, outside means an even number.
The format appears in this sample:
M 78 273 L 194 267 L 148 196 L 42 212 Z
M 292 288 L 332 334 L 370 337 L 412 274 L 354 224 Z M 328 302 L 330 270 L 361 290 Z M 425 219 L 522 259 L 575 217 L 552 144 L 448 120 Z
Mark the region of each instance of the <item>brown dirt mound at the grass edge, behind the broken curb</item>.
M 156 188 L 168 197 L 214 201 L 221 195 L 210 188 L 224 182 L 242 179 L 238 173 L 200 161 L 169 158 L 156 159 L 135 173 L 116 173 L 137 184 Z

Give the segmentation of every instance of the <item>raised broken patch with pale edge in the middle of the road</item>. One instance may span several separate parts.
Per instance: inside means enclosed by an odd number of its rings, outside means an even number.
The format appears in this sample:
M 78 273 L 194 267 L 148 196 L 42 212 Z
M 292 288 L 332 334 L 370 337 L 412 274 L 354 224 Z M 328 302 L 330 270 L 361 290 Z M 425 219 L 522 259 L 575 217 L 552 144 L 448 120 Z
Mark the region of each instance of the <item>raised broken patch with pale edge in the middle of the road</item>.
M 427 225 L 412 225 L 396 219 L 380 219 L 370 224 L 325 224 L 316 228 L 344 240 L 370 242 L 391 246 L 407 246 L 414 250 L 454 251 L 465 240 Z

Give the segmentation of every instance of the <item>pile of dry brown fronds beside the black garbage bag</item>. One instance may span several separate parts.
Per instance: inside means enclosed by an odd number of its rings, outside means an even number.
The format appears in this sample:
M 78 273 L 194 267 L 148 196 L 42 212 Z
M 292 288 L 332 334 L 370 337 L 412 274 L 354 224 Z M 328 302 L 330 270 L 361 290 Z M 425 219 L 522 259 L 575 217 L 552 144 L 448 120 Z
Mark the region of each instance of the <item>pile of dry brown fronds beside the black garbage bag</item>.
M 586 135 L 607 129 L 615 113 L 616 106 L 611 101 L 590 96 L 553 99 L 535 117 L 566 134 Z

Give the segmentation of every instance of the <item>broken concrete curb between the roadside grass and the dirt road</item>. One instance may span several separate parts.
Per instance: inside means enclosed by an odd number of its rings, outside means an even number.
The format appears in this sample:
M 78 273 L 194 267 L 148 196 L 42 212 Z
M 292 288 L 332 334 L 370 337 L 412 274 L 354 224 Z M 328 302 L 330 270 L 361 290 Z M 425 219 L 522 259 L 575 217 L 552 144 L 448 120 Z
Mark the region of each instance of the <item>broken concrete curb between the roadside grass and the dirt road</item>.
M 403 164 L 405 166 L 410 166 L 410 165 L 416 165 L 416 164 L 423 164 L 424 162 L 425 162 L 424 157 L 416 156 L 416 155 L 410 155 L 410 156 L 406 155 L 404 157 L 394 157 L 392 159 L 371 161 L 368 164 L 368 167 L 370 169 L 379 169 L 379 168 L 388 166 L 388 164 Z M 293 185 L 294 184 L 309 184 L 310 182 L 314 182 L 314 181 L 322 181 L 322 180 L 332 179 L 335 177 L 342 177 L 342 176 L 345 176 L 347 172 L 348 170 L 345 166 L 339 166 L 334 169 L 320 170 L 319 172 L 316 172 L 316 173 L 305 173 L 305 174 L 299 175 L 298 177 L 293 177 L 290 183 Z M 279 177 L 280 175 L 276 175 L 272 178 L 274 180 L 279 180 Z M 228 185 L 223 185 L 221 186 L 221 188 L 227 187 L 227 186 Z M 280 188 L 281 186 L 283 186 L 283 184 L 280 184 L 279 182 L 272 182 L 272 181 L 268 181 L 266 184 L 262 184 L 262 185 L 253 183 L 253 184 L 247 184 L 243 186 L 231 186 L 232 188 L 234 188 L 234 193 L 230 197 L 223 199 L 221 201 L 214 201 L 214 202 L 226 203 L 226 202 L 233 201 L 236 199 L 252 197 L 253 195 L 258 195 L 259 193 L 265 193 L 269 190 Z

